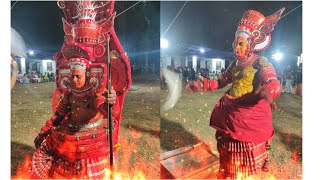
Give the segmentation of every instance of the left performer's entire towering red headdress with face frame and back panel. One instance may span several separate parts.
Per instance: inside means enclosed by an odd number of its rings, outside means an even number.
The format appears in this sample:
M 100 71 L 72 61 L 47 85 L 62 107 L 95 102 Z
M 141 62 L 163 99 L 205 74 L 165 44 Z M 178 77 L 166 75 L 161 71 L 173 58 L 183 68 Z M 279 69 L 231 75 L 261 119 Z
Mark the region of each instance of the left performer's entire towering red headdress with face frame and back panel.
M 107 88 L 107 48 L 111 56 L 111 84 L 117 93 L 119 103 L 118 115 L 114 118 L 115 130 L 112 131 L 114 144 L 118 141 L 120 120 L 124 96 L 131 86 L 131 68 L 129 58 L 115 33 L 113 24 L 115 13 L 114 1 L 58 1 L 58 6 L 64 13 L 63 30 L 64 44 L 61 51 L 55 54 L 57 61 L 56 81 L 57 90 L 53 97 L 53 111 L 58 102 L 57 97 L 64 91 L 95 95 Z M 87 83 L 81 90 L 73 91 L 69 87 L 68 76 L 70 63 L 76 59 L 86 59 L 91 62 L 87 66 Z M 72 63 L 71 63 L 72 64 Z

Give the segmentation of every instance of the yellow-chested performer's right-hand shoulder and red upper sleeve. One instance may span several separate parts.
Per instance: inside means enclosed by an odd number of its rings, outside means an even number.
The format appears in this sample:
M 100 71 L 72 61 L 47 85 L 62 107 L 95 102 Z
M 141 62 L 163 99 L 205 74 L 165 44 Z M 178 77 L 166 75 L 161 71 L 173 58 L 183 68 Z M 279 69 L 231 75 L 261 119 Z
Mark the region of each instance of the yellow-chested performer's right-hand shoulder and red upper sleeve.
M 260 87 L 256 90 L 256 93 L 269 103 L 273 103 L 282 91 L 274 67 L 265 57 L 260 57 L 255 62 L 254 67 L 258 70 L 257 77 L 260 83 Z

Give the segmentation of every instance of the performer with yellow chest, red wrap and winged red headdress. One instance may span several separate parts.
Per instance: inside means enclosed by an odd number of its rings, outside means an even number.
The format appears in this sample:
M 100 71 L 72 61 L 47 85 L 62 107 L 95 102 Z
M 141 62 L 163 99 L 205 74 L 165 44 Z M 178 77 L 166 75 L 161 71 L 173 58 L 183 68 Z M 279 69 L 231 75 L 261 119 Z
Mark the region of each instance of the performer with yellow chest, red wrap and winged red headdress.
M 210 126 L 217 129 L 220 178 L 249 176 L 261 167 L 268 170 L 267 149 L 274 133 L 272 112 L 281 85 L 272 64 L 254 52 L 267 49 L 271 32 L 284 8 L 264 17 L 246 11 L 233 43 L 236 60 L 222 74 L 219 88 L 231 88 L 213 109 Z

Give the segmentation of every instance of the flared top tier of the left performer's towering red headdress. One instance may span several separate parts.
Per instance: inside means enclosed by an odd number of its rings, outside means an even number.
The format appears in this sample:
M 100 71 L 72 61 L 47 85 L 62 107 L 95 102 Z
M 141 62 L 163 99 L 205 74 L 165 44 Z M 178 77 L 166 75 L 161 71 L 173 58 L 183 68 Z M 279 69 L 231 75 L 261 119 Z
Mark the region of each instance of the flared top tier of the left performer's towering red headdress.
M 93 47 L 105 40 L 104 36 L 113 26 L 114 2 L 81 0 L 77 2 L 58 1 L 66 19 L 64 25 L 65 41 L 77 42 Z

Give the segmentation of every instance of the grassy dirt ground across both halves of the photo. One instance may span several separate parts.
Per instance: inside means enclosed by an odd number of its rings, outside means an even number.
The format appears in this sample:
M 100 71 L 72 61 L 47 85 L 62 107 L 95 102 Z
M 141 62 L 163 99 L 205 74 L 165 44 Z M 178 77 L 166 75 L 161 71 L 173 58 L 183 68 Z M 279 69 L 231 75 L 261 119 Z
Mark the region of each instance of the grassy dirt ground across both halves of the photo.
M 11 173 L 34 151 L 33 140 L 51 117 L 54 83 L 17 84 L 11 95 Z M 134 77 L 125 98 L 117 156 L 117 169 L 133 175 L 142 171 L 147 179 L 158 179 L 160 153 L 204 143 L 218 156 L 215 130 L 209 127 L 214 104 L 227 90 L 187 93 L 173 109 L 160 113 L 167 90 L 160 90 L 156 76 Z M 302 97 L 281 94 L 273 112 L 270 173 L 256 178 L 302 179 Z M 161 122 L 160 122 L 161 118 Z M 161 137 L 161 138 L 160 138 Z

